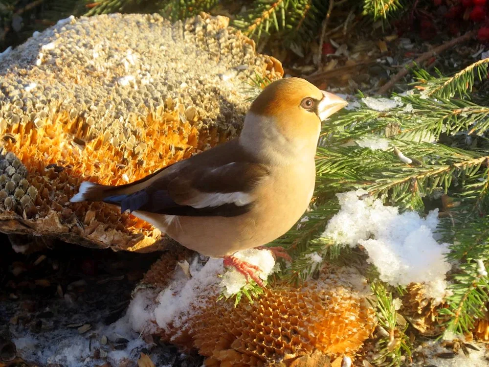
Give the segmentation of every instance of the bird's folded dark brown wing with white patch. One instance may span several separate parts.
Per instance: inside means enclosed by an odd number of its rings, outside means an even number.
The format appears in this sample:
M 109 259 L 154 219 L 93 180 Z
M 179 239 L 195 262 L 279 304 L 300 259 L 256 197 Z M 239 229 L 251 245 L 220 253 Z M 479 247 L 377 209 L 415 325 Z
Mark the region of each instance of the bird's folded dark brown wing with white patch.
M 230 162 L 216 167 L 183 167 L 170 180 L 154 180 L 144 189 L 106 202 L 121 210 L 184 216 L 236 216 L 250 210 L 253 190 L 268 175 L 267 167 Z

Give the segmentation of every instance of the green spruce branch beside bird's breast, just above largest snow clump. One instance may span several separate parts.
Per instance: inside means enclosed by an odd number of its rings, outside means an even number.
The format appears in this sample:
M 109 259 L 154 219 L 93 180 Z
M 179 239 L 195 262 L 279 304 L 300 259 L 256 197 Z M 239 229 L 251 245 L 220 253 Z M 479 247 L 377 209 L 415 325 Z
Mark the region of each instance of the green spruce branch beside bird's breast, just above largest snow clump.
M 387 151 L 359 146 L 318 148 L 317 191 L 324 193 L 363 188 L 371 195 L 388 195 L 404 209 L 422 209 L 421 198 L 441 187 L 447 192 L 452 182 L 471 184 L 478 180 L 489 156 L 443 144 L 392 140 L 405 156 L 417 161 L 406 164 Z M 471 180 L 471 181 L 470 181 Z

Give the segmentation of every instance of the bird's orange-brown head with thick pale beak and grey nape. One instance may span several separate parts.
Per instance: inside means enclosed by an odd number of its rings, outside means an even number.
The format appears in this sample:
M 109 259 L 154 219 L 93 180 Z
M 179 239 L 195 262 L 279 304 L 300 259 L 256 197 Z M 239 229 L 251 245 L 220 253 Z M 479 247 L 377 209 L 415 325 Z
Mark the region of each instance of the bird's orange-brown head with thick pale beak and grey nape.
M 262 148 L 275 144 L 277 149 L 282 146 L 297 154 L 304 149 L 315 151 L 321 121 L 346 105 L 344 99 L 305 79 L 283 78 L 269 84 L 253 101 L 241 140 Z

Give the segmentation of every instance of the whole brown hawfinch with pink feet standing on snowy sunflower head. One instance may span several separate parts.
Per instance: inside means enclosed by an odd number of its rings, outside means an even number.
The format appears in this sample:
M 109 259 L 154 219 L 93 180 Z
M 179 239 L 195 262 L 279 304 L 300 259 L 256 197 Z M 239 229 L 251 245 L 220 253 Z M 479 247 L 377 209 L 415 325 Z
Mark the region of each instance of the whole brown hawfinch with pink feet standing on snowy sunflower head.
M 268 84 L 251 103 L 238 138 L 129 184 L 82 182 L 70 201 L 120 206 L 184 247 L 223 259 L 264 287 L 260 268 L 234 256 L 266 247 L 307 210 L 321 122 L 347 102 L 302 78 Z

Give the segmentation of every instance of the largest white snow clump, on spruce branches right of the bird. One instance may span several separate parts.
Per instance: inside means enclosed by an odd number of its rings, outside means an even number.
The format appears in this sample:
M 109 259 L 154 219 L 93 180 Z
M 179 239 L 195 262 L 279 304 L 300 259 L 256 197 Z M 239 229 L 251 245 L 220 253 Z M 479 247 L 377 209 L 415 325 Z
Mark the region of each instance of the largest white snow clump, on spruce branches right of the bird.
M 448 244 L 433 237 L 438 226 L 438 209 L 426 219 L 416 212 L 399 213 L 379 199 L 359 196 L 365 190 L 337 194 L 340 211 L 331 218 L 323 237 L 348 246 L 362 245 L 380 279 L 393 285 L 426 283 L 426 294 L 441 302 L 445 296 L 445 274 L 451 268 L 445 260 Z

